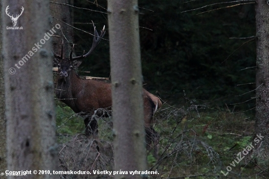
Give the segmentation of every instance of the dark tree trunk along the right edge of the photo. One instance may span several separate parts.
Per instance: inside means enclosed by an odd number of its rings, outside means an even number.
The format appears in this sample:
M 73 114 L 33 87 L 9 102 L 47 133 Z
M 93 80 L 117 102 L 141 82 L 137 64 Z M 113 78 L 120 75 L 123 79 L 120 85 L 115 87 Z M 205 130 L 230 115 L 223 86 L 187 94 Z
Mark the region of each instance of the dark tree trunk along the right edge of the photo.
M 256 143 L 258 164 L 268 167 L 269 161 L 269 5 L 256 0 L 256 134 L 264 136 Z

